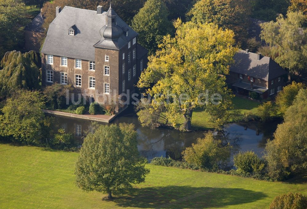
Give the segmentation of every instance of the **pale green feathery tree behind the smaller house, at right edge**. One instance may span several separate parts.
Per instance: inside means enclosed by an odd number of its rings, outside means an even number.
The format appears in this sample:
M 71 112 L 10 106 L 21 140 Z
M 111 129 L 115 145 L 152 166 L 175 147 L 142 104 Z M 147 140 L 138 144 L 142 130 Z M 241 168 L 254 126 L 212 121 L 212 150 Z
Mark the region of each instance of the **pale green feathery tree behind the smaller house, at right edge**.
M 300 12 L 280 15 L 276 22 L 261 24 L 261 38 L 270 44 L 273 59 L 291 73 L 301 73 L 307 66 L 306 17 Z

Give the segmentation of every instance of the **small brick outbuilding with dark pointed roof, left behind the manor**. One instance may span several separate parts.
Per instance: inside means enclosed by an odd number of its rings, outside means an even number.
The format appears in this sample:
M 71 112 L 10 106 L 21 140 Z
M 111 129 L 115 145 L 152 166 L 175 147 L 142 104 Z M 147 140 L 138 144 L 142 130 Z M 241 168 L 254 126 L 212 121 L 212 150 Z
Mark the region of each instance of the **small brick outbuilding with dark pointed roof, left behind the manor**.
M 40 40 L 45 36 L 45 28 L 43 28 L 44 18 L 41 13 L 38 14 L 33 21 L 25 27 L 25 50 L 34 50 L 39 52 L 41 45 Z

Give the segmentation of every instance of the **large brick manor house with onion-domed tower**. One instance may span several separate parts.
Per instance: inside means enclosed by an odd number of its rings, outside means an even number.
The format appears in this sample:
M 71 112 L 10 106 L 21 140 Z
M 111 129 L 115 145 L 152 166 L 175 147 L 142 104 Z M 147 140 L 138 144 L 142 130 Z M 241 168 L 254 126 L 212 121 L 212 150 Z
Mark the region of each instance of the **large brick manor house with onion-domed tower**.
M 107 12 L 57 7 L 41 50 L 42 85 L 73 84 L 100 103 L 133 92 L 148 52 L 137 37 L 111 6 Z

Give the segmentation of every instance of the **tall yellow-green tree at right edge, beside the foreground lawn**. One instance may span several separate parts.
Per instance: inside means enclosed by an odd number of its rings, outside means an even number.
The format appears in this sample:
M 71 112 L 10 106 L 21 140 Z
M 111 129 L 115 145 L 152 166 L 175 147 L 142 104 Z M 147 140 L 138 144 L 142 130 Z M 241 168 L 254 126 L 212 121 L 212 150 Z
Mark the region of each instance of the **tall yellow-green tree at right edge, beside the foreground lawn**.
M 307 90 L 301 89 L 285 113 L 284 122 L 266 144 L 268 175 L 283 180 L 307 171 Z

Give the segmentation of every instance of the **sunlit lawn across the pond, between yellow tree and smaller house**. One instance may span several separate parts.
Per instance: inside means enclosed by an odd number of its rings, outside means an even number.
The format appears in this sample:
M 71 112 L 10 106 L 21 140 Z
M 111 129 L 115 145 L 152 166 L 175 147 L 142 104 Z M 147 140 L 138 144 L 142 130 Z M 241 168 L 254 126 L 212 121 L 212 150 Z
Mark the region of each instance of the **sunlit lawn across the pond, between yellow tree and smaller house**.
M 234 97 L 232 99 L 235 109 L 238 109 L 243 115 L 246 112 L 256 113 L 257 107 L 261 104 L 247 98 Z M 205 111 L 198 109 L 193 112 L 192 126 L 194 129 L 212 129 L 214 124 L 209 120 L 209 115 Z

